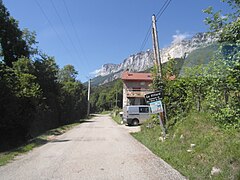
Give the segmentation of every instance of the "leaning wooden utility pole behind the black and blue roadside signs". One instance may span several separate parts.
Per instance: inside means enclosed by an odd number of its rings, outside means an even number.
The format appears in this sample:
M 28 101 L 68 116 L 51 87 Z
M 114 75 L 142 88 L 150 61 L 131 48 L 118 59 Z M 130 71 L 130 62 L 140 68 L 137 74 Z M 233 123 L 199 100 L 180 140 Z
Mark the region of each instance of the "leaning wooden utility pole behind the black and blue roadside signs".
M 154 62 L 157 66 L 157 73 L 162 78 L 162 63 L 160 58 L 160 51 L 159 51 L 159 44 L 158 44 L 158 34 L 157 34 L 157 26 L 156 26 L 156 16 L 152 16 L 152 38 L 153 38 L 153 54 L 154 54 Z M 163 131 L 163 138 L 166 137 L 166 129 L 164 127 L 163 123 L 163 116 L 161 116 L 161 113 L 159 114 L 159 122 L 160 126 Z

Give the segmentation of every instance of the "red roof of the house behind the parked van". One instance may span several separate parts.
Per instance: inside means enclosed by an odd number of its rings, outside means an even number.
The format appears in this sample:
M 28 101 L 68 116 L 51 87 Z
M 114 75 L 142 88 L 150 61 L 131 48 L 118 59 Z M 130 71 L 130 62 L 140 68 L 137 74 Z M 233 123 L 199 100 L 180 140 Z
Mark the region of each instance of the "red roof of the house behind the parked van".
M 122 80 L 152 81 L 152 74 L 151 73 L 131 73 L 131 72 L 125 71 L 122 74 Z

